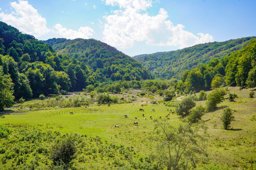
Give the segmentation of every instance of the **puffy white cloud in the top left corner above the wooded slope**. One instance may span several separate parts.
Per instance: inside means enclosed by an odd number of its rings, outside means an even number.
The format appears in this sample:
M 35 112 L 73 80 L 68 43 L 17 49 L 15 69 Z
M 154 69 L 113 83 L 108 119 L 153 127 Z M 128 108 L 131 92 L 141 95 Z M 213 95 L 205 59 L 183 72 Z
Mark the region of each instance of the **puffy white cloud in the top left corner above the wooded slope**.
M 11 2 L 11 7 L 15 10 L 11 14 L 0 13 L 3 22 L 36 38 L 52 31 L 47 28 L 46 19 L 38 14 L 37 10 L 28 4 L 28 1 Z

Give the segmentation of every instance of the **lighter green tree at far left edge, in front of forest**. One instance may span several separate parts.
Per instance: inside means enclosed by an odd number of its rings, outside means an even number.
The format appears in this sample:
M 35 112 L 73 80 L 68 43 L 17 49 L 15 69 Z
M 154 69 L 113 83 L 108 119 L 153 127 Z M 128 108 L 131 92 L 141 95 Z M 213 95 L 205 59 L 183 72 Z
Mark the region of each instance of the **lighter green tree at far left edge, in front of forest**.
M 4 109 L 5 106 L 13 102 L 13 85 L 10 76 L 4 75 L 3 68 L 0 66 L 0 109 Z

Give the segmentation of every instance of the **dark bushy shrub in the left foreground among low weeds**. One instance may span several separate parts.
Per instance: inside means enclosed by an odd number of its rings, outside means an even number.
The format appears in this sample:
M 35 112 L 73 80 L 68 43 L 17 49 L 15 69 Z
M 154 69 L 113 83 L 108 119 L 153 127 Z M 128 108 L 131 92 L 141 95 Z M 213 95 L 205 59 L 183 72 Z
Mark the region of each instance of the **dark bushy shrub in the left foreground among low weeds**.
M 76 150 L 75 137 L 68 135 L 61 139 L 59 143 L 52 145 L 50 159 L 53 161 L 54 165 L 60 162 L 67 165 L 74 158 Z

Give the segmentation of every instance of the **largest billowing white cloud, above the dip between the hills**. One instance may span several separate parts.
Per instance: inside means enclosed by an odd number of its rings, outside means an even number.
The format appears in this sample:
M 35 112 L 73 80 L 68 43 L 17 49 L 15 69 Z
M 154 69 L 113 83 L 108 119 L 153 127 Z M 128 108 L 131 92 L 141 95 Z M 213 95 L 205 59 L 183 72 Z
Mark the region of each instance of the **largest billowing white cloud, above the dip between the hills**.
M 149 0 L 102 0 L 106 5 L 118 5 L 124 10 L 112 11 L 112 15 L 104 16 L 106 21 L 103 31 L 104 42 L 120 47 L 130 48 L 135 41 L 145 41 L 148 45 L 178 46 L 184 48 L 198 43 L 211 42 L 209 34 L 194 35 L 184 30 L 184 26 L 176 26 L 167 20 L 168 13 L 160 8 L 158 15 L 141 13 L 152 6 Z M 136 5 L 134 5 L 136 4 Z

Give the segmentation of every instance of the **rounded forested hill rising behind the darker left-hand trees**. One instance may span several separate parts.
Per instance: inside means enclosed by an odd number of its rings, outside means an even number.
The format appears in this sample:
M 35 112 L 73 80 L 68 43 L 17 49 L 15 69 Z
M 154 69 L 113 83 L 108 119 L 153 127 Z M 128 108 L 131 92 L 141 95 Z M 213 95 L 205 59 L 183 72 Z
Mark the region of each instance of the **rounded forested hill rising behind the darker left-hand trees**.
M 152 79 L 151 73 L 139 62 L 116 48 L 94 39 L 49 39 L 43 41 L 52 45 L 58 55 L 67 55 L 84 62 L 94 71 L 99 71 L 111 80 Z

